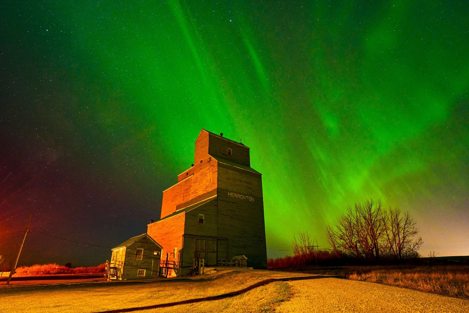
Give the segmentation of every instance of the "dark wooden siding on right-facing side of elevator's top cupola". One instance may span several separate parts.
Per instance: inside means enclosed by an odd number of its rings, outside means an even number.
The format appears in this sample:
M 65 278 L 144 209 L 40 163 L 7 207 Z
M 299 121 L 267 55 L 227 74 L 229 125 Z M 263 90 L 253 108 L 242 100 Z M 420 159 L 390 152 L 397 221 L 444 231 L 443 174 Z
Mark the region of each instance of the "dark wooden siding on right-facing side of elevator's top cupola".
M 231 149 L 231 155 L 228 154 L 228 148 Z M 245 145 L 226 140 L 223 137 L 210 134 L 208 154 L 250 166 L 249 148 Z

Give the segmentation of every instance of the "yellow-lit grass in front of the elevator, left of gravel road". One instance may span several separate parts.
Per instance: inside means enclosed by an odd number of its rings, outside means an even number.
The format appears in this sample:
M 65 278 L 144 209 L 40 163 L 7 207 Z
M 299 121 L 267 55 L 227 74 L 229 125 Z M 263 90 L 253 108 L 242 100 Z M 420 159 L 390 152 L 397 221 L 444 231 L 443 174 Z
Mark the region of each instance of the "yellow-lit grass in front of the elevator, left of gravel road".
M 292 276 L 308 275 L 269 271 L 234 271 L 206 278 L 158 282 L 95 282 L 1 288 L 0 312 L 99 312 L 172 303 L 217 296 L 246 288 L 265 279 Z M 287 283 L 272 282 L 239 296 L 179 305 L 178 310 L 182 312 L 271 312 L 277 304 L 287 300 L 289 296 L 290 290 Z M 174 312 L 174 307 L 158 308 L 151 312 Z

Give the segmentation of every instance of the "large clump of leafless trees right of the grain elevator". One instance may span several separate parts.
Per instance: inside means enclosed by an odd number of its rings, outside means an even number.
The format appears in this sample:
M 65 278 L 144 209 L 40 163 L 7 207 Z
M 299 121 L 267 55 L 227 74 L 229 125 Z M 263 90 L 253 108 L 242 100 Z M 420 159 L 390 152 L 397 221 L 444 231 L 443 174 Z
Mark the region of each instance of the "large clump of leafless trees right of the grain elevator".
M 408 212 L 383 209 L 382 202 L 373 199 L 347 206 L 334 227 L 326 226 L 327 241 L 334 252 L 374 260 L 417 256 L 423 243 L 422 237 L 414 239 L 417 234 L 416 222 Z

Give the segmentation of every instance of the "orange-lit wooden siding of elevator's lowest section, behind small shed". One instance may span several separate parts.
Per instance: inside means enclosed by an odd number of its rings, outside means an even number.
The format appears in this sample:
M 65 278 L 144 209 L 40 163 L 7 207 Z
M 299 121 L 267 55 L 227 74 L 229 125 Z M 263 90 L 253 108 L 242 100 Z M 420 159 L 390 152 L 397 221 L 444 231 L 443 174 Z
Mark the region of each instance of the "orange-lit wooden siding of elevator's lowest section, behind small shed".
M 182 249 L 182 235 L 184 234 L 184 220 L 186 213 L 167 218 L 166 220 L 148 225 L 148 235 L 163 247 L 161 260 L 166 260 L 169 252 L 170 261 L 179 261 L 179 252 Z M 178 254 L 173 257 L 173 250 L 177 248 Z

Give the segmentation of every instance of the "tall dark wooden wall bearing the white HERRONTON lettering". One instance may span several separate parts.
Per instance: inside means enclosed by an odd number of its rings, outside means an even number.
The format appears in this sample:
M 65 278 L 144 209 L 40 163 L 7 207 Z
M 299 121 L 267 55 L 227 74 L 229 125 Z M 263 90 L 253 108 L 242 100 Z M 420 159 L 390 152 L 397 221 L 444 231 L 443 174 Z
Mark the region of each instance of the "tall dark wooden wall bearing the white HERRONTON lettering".
M 261 175 L 219 163 L 217 198 L 217 236 L 228 239 L 228 257 L 244 254 L 249 267 L 267 268 Z

